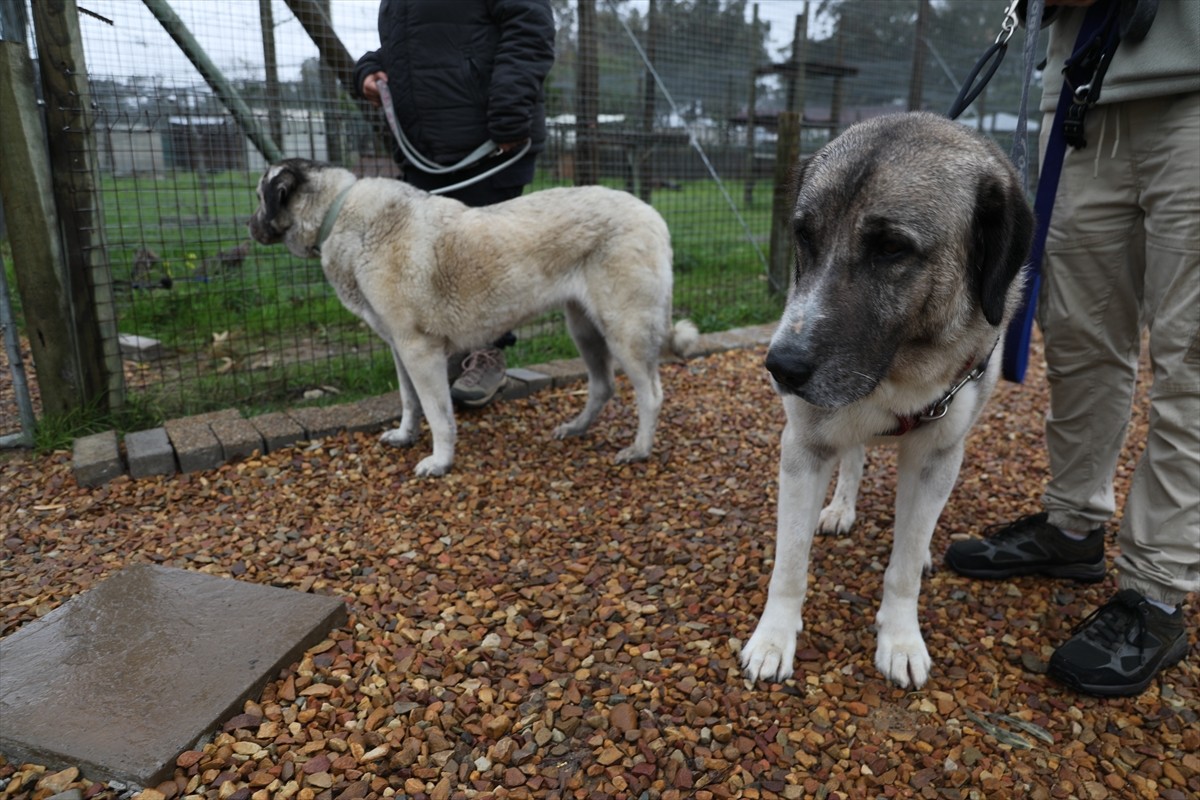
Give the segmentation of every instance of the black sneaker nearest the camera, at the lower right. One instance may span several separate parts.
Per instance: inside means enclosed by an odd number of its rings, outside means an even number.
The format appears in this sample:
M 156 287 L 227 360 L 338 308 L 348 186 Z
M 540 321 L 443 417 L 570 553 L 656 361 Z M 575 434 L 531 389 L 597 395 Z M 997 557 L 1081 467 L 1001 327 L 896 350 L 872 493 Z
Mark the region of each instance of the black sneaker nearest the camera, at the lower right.
M 1187 651 L 1182 609 L 1168 614 L 1133 589 L 1122 589 L 1055 650 L 1049 674 L 1088 694 L 1141 694 Z

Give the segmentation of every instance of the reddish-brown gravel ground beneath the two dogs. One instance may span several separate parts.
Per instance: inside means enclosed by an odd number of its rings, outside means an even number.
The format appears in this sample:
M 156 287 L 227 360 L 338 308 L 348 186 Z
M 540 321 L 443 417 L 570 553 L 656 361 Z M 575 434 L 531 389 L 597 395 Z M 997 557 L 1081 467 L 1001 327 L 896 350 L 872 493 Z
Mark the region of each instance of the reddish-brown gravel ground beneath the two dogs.
M 94 489 L 68 453 L 10 456 L 0 632 L 148 561 L 344 597 L 349 622 L 144 800 L 1200 795 L 1195 626 L 1189 658 L 1139 698 L 1044 675 L 1112 576 L 978 583 L 942 569 L 922 602 L 929 684 L 881 679 L 887 451 L 870 455 L 852 535 L 814 548 L 794 678 L 746 685 L 737 656 L 767 589 L 782 426 L 762 357 L 665 366 L 656 451 L 636 465 L 611 463 L 632 435 L 624 384 L 583 439 L 548 435 L 578 391 L 461 415 L 455 470 L 438 480 L 412 477 L 427 439 L 397 451 L 372 435 Z M 953 536 L 1033 507 L 1045 402 L 1037 368 L 1002 384 L 935 561 Z M 1141 415 L 1132 439 L 1144 431 Z M 35 800 L 121 794 L 2 759 L 0 784 Z

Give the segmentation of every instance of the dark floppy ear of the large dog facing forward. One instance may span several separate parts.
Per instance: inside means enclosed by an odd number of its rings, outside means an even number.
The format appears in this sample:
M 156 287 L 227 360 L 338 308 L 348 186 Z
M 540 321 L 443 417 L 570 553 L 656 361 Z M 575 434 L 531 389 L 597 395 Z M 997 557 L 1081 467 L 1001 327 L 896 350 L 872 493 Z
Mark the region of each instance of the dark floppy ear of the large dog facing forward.
M 991 325 L 1004 319 L 1008 288 L 1030 255 L 1033 212 L 1014 185 L 988 175 L 976 190 L 968 258 L 972 284 Z

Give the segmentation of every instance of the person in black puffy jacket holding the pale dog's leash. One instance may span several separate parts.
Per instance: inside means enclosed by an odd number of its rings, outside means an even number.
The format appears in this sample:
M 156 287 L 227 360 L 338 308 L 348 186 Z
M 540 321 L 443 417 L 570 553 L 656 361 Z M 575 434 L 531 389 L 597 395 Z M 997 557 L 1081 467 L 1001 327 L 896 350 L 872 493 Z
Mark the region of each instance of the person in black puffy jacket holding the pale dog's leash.
M 542 84 L 554 62 L 550 0 L 382 0 L 379 44 L 359 59 L 354 85 L 379 106 L 379 80 L 386 80 L 400 128 L 420 156 L 450 166 L 484 143 L 496 145 L 492 156 L 438 174 L 420 169 L 396 145 L 403 180 L 427 192 L 442 190 L 512 160 L 528 145 L 500 172 L 442 192 L 470 206 L 518 197 L 546 145 Z M 514 341 L 508 333 L 462 359 L 462 374 L 450 389 L 457 403 L 478 408 L 496 397 L 506 383 L 502 348 Z

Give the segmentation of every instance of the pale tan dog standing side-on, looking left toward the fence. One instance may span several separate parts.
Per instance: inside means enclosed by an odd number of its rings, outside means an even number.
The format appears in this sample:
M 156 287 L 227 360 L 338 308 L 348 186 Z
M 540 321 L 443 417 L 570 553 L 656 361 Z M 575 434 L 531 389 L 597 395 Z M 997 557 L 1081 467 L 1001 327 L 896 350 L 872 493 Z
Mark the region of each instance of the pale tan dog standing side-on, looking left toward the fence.
M 697 331 L 688 320 L 671 324 L 671 236 L 646 203 L 590 186 L 472 209 L 298 158 L 266 170 L 258 200 L 251 235 L 319 257 L 342 303 L 391 348 L 403 409 L 382 440 L 412 445 L 424 414 L 433 455 L 418 475 L 454 463 L 448 354 L 554 307 L 588 371 L 583 411 L 554 437 L 580 435 L 595 421 L 614 391 L 616 356 L 637 398 L 637 434 L 617 462 L 650 455 L 662 405 L 659 356 L 686 355 Z

